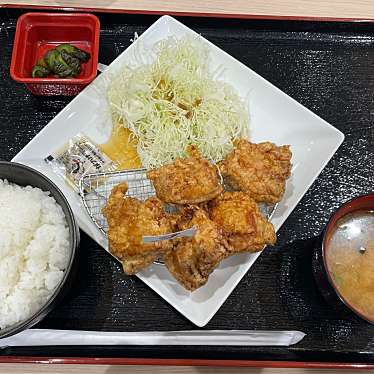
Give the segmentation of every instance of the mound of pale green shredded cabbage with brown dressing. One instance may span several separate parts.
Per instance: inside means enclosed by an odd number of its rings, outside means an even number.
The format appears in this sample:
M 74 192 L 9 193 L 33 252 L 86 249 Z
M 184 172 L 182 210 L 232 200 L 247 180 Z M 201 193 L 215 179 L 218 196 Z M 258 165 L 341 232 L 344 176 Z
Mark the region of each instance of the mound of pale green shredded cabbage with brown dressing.
M 209 69 L 199 38 L 168 38 L 155 46 L 154 61 L 123 66 L 108 86 L 112 116 L 137 138 L 142 165 L 159 167 L 186 156 L 194 144 L 218 162 L 233 142 L 248 136 L 248 110 L 228 83 Z

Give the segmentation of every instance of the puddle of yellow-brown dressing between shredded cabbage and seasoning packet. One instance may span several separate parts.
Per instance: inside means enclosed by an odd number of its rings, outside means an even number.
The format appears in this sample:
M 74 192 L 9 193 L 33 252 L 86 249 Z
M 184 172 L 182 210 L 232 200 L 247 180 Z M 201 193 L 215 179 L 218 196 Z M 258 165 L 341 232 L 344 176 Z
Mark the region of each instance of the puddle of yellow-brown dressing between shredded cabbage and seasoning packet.
M 136 139 L 131 135 L 129 129 L 121 123 L 115 123 L 109 140 L 99 145 L 100 149 L 118 165 L 118 170 L 137 169 L 142 165 L 136 151 Z

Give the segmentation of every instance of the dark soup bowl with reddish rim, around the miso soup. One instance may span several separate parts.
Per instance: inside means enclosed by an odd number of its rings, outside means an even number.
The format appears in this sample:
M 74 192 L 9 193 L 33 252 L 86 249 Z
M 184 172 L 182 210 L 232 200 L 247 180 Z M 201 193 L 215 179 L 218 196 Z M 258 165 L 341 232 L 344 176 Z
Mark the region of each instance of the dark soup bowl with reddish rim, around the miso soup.
M 355 202 L 356 200 L 360 200 L 360 199 L 364 199 L 364 198 L 368 198 L 368 197 L 372 197 L 373 198 L 373 208 L 374 208 L 374 192 L 372 193 L 367 193 L 367 194 L 364 194 L 364 195 L 359 195 L 359 196 L 356 196 L 356 197 L 353 197 L 352 199 L 349 199 L 348 201 L 346 201 L 344 204 L 340 205 L 340 207 L 338 209 L 336 209 L 334 211 L 334 213 L 331 214 L 326 226 L 325 226 L 325 230 L 323 231 L 323 234 L 322 234 L 322 243 L 321 243 L 321 246 L 322 246 L 322 259 L 323 259 L 323 266 L 324 266 L 324 269 L 325 269 L 325 273 L 326 273 L 326 276 L 327 276 L 327 280 L 330 284 L 330 286 L 333 288 L 333 290 L 335 291 L 337 297 L 340 299 L 340 301 L 347 307 L 349 308 L 354 314 L 356 314 L 357 316 L 359 316 L 360 318 L 362 318 L 364 321 L 366 322 L 369 322 L 370 324 L 373 324 L 374 325 L 374 317 L 372 319 L 369 319 L 367 318 L 367 316 L 363 315 L 362 313 L 360 313 L 357 309 L 355 309 L 345 298 L 344 296 L 339 292 L 339 290 L 335 287 L 335 283 L 334 283 L 334 280 L 332 279 L 331 275 L 330 275 L 330 271 L 329 271 L 329 267 L 328 267 L 328 264 L 327 264 L 327 260 L 326 260 L 326 251 L 327 251 L 327 243 L 326 243 L 326 234 L 328 232 L 328 229 L 329 229 L 329 226 L 332 222 L 332 220 L 334 219 L 334 217 L 342 210 L 344 209 L 347 205 L 349 204 L 352 204 L 353 202 Z M 351 212 L 354 212 L 356 210 L 359 210 L 359 209 L 352 209 Z M 347 212 L 348 214 L 348 212 Z

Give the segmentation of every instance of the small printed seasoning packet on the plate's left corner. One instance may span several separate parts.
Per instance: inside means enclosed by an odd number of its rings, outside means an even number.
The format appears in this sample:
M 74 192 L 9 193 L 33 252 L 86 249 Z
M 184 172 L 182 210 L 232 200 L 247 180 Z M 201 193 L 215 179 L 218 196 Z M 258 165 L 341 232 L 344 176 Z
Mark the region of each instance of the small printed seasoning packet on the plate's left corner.
M 116 163 L 83 134 L 77 134 L 44 160 L 77 192 L 83 176 L 117 169 Z

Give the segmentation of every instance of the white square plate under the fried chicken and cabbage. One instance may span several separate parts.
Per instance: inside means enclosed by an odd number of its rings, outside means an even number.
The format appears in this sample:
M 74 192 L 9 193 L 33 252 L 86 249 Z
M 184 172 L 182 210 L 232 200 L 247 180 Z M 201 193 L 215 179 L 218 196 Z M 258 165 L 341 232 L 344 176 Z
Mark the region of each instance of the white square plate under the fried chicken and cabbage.
M 172 17 L 161 17 L 13 159 L 38 169 L 52 179 L 67 197 L 82 230 L 105 249 L 107 243 L 86 214 L 79 197 L 42 160 L 80 131 L 94 141 L 105 141 L 111 122 L 105 97 L 97 88 L 105 85 L 107 74 L 132 62 L 138 43 L 142 43 L 147 51 L 168 36 L 180 38 L 188 34 L 197 36 Z M 214 44 L 204 38 L 201 40 L 210 51 L 212 69 L 223 66 L 223 79 L 232 84 L 242 97 L 249 92 L 251 140 L 291 145 L 292 177 L 272 218 L 278 230 L 342 143 L 344 135 Z M 107 130 L 103 131 L 103 128 Z M 186 318 L 197 326 L 204 326 L 258 256 L 259 253 L 242 254 L 225 260 L 210 276 L 208 283 L 193 293 L 185 291 L 160 265 L 153 265 L 138 276 Z

